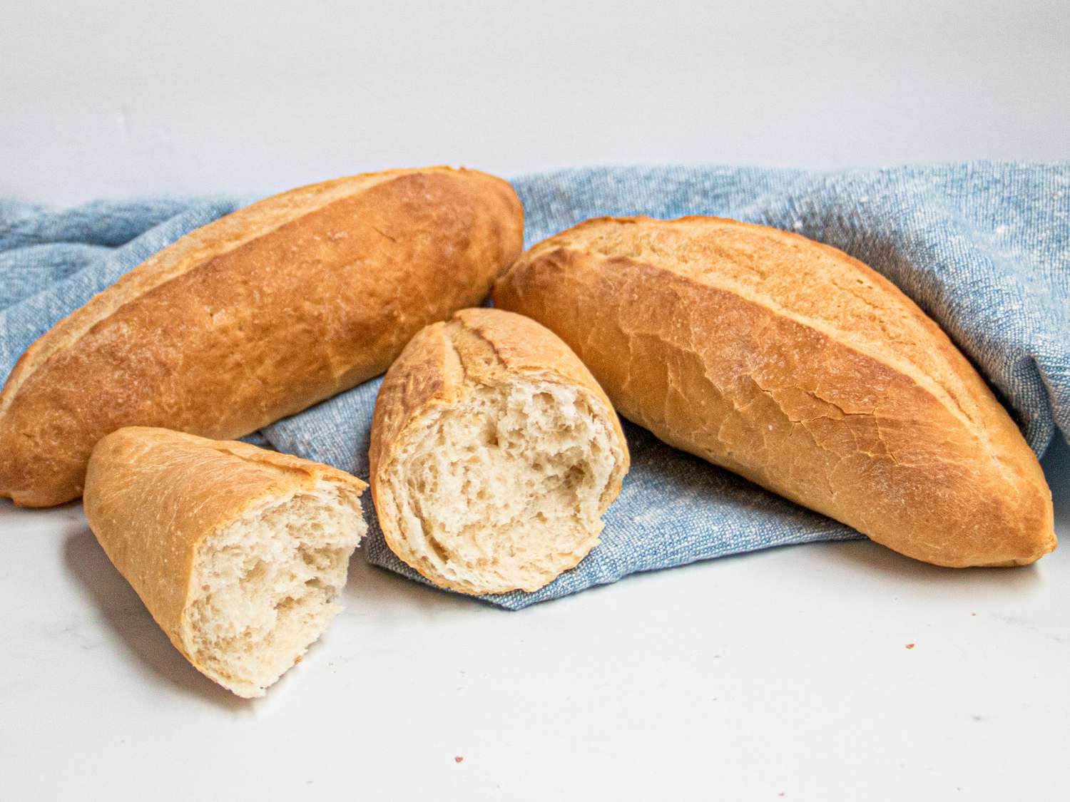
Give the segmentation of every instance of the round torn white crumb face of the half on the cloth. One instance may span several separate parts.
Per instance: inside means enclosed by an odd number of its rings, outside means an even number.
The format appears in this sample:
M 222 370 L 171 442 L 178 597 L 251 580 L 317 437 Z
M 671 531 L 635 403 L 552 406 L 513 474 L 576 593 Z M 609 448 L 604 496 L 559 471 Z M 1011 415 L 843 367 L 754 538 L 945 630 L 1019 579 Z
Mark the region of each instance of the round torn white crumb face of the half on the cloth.
M 627 457 L 593 394 L 532 377 L 418 416 L 379 469 L 394 552 L 465 593 L 537 590 L 598 543 Z

